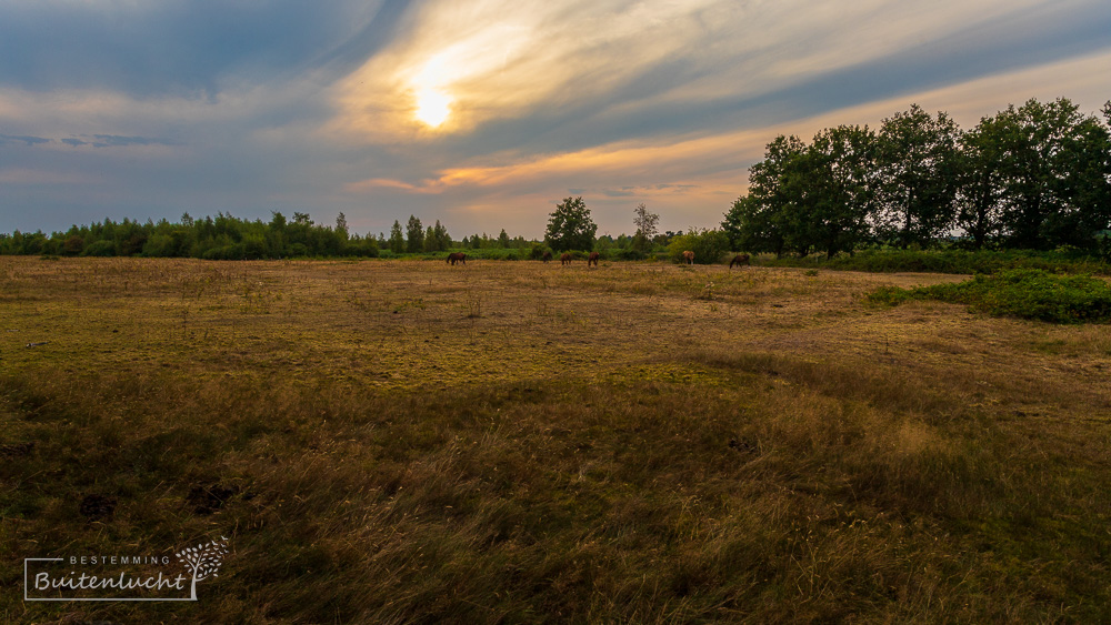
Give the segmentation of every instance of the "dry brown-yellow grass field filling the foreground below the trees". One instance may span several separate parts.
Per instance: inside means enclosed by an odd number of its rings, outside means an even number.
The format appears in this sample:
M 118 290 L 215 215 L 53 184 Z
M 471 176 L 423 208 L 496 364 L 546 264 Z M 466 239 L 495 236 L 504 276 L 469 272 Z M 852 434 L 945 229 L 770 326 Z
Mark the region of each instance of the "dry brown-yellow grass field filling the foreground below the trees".
M 0 622 L 1111 622 L 1111 332 L 962 279 L 0 256 Z

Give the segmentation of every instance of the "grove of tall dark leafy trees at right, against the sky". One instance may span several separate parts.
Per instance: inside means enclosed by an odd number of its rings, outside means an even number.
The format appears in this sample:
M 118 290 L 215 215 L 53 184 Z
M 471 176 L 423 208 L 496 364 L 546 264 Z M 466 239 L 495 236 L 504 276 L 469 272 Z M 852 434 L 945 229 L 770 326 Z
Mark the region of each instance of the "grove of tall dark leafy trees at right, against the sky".
M 1111 223 L 1111 102 L 1030 100 L 968 131 L 917 104 L 879 130 L 780 135 L 725 213 L 734 249 L 779 256 L 958 243 L 1098 250 Z

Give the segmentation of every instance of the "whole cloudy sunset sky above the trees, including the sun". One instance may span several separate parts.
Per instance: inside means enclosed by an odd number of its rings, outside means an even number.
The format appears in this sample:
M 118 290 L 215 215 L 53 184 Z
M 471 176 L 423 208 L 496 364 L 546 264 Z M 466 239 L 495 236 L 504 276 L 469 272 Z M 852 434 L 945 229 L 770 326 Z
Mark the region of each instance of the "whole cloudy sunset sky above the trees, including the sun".
M 712 228 L 779 134 L 1111 100 L 1107 0 L 0 0 L 0 232 Z

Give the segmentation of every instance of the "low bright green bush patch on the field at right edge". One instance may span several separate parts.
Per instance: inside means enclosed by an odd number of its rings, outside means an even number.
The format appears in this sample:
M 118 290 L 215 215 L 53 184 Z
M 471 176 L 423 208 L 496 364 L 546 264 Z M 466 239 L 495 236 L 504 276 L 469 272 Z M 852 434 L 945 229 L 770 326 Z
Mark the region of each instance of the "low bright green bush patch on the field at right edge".
M 939 300 L 965 304 L 992 316 L 1017 316 L 1050 323 L 1111 321 L 1111 286 L 1089 275 L 1054 275 L 1037 269 L 978 274 L 955 284 L 904 290 L 883 286 L 869 294 L 875 303 Z

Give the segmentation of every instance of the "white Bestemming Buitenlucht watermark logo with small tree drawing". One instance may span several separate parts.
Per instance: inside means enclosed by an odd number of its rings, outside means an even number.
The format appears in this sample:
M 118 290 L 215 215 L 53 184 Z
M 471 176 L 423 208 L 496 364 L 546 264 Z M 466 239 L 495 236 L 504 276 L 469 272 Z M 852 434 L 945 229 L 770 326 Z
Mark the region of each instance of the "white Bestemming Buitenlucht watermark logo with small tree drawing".
M 86 555 L 23 560 L 23 601 L 197 601 L 197 584 L 219 577 L 228 538 L 169 556 Z M 188 593 L 189 596 L 186 596 Z

